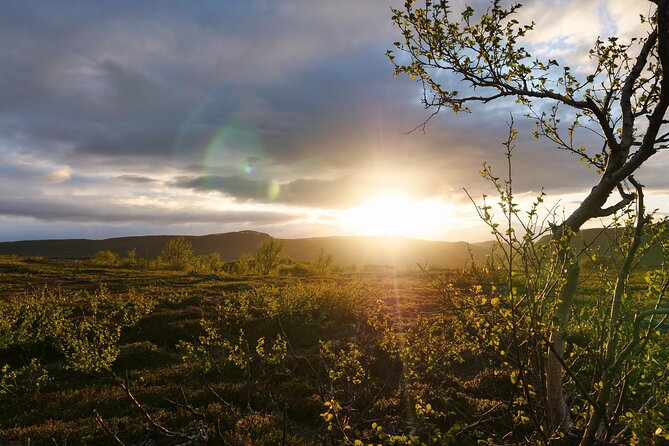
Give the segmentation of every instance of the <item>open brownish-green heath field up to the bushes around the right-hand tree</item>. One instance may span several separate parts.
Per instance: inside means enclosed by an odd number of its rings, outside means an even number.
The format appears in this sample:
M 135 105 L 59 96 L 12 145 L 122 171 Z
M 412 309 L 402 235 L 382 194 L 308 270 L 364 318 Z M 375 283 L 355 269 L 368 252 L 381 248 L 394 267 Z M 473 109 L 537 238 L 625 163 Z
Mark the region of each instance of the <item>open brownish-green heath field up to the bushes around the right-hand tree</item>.
M 5 256 L 0 445 L 523 444 L 535 420 L 512 358 L 524 353 L 496 331 L 505 304 L 480 273 Z M 601 286 L 585 287 L 594 308 Z M 445 311 L 456 296 L 482 319 Z M 580 371 L 597 333 L 587 308 L 572 339 Z M 666 380 L 663 357 L 653 382 Z

